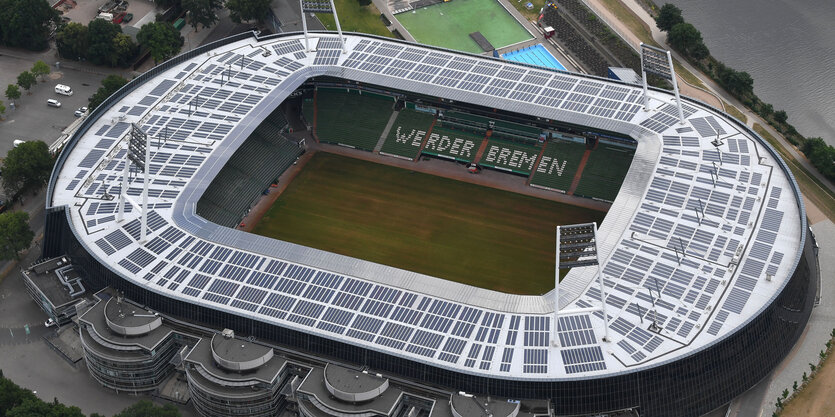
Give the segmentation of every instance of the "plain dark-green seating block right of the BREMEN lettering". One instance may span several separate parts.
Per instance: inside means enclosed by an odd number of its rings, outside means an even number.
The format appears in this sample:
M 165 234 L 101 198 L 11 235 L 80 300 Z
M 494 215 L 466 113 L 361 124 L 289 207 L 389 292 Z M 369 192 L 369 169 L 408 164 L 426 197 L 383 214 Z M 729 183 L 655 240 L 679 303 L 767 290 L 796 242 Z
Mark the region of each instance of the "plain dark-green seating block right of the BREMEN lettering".
M 633 150 L 611 145 L 598 145 L 589 152 L 580 183 L 574 195 L 614 201 L 632 163 Z

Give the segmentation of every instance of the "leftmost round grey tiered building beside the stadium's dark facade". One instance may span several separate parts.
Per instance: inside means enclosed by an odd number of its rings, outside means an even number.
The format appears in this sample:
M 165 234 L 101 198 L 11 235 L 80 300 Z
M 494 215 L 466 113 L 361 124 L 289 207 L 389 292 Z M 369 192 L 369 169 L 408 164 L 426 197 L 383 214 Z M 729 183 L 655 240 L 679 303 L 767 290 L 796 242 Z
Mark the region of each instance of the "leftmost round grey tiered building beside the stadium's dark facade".
M 174 332 L 158 315 L 118 298 L 96 303 L 79 318 L 87 369 L 118 392 L 148 393 L 174 370 Z

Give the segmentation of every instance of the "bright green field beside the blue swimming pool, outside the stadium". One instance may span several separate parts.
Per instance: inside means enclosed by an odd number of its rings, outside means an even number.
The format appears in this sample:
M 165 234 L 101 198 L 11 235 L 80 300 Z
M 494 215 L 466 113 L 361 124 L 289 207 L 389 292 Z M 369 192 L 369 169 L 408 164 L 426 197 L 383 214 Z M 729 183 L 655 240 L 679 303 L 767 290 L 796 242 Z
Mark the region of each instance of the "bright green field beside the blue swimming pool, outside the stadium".
M 481 32 L 496 49 L 531 39 L 496 0 L 452 0 L 395 18 L 420 43 L 476 54 L 484 51 L 470 38 L 473 32 Z

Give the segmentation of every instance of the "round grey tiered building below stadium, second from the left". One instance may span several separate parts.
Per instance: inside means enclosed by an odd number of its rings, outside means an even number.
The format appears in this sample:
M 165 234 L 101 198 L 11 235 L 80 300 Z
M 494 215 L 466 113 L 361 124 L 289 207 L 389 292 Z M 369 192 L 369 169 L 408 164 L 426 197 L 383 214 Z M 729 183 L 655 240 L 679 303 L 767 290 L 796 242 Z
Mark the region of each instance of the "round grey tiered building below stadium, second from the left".
M 191 400 L 201 416 L 274 416 L 285 406 L 286 361 L 273 349 L 214 335 L 185 359 Z

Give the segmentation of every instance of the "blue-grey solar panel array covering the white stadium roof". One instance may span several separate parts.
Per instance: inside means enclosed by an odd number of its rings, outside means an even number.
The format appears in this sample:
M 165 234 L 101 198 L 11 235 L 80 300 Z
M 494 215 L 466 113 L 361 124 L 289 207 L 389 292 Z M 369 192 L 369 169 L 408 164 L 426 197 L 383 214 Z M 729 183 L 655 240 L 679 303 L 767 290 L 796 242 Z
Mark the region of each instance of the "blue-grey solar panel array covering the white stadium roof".
M 444 366 L 540 378 L 629 367 L 693 343 L 704 331 L 718 335 L 745 311 L 763 274 L 777 274 L 790 258 L 777 248 L 790 221 L 781 209 L 787 191 L 772 185 L 772 167 L 758 163 L 759 145 L 703 110 L 687 105 L 685 116 L 695 118 L 682 127 L 674 106 L 640 112 L 638 88 L 414 45 L 347 39 L 348 54 L 341 53 L 338 39 L 324 36 L 310 54 L 299 39 L 282 38 L 201 57 L 128 99 L 137 105 L 111 110 L 114 116 L 102 118 L 84 138 L 91 145 L 79 147 L 75 163 L 64 167 L 72 175 L 56 191 L 77 202 L 73 215 L 83 220 L 91 249 L 146 285 L 189 302 Z M 273 53 L 264 56 L 264 48 Z M 601 344 L 599 311 L 567 314 L 554 323 L 551 315 L 476 307 L 219 245 L 171 223 L 180 192 L 232 129 L 249 122 L 282 81 L 311 65 L 663 132 L 644 201 L 603 271 L 612 343 Z M 152 137 L 152 215 L 145 242 L 138 241 L 141 207 L 134 202 L 126 204 L 127 220 L 115 222 L 123 136 L 137 118 Z M 717 132 L 730 135 L 719 149 L 709 143 Z M 143 176 L 132 173 L 127 194 L 138 200 L 142 186 Z M 593 285 L 572 306 L 593 307 L 601 299 Z M 650 330 L 656 326 L 661 330 Z M 552 341 L 560 349 L 551 348 Z M 611 353 L 604 355 L 601 346 Z

